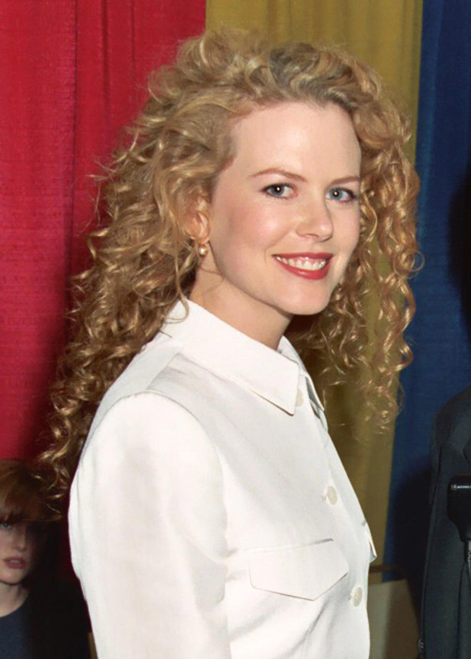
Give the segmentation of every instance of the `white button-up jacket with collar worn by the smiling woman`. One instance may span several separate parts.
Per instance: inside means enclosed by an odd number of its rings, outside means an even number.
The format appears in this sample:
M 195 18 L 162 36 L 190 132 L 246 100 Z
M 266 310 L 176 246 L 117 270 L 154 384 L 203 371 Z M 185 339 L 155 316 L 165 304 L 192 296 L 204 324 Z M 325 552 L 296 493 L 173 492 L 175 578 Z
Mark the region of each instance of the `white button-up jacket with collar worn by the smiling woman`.
M 73 482 L 98 657 L 367 659 L 371 535 L 308 374 L 189 309 L 106 393 Z

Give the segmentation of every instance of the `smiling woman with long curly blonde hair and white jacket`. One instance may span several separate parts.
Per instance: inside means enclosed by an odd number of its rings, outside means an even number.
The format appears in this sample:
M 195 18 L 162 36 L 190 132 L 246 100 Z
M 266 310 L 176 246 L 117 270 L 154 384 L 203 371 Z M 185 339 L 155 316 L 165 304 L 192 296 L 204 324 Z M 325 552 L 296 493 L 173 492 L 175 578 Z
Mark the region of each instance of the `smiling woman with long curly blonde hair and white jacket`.
M 373 275 L 367 393 L 394 412 L 406 124 L 348 55 L 245 34 L 184 43 L 150 92 L 110 169 L 45 455 L 60 495 L 81 451 L 71 547 L 98 656 L 366 658 L 371 536 L 284 333 L 303 316 L 298 344 L 337 374 L 365 363 Z

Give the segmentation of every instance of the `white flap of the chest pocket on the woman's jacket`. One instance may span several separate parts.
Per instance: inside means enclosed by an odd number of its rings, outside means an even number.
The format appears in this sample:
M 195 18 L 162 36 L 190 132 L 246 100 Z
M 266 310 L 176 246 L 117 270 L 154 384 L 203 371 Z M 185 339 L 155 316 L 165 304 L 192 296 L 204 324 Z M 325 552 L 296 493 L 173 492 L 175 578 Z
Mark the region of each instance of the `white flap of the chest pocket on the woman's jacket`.
M 328 538 L 315 544 L 247 552 L 253 588 L 315 600 L 348 573 L 346 558 Z

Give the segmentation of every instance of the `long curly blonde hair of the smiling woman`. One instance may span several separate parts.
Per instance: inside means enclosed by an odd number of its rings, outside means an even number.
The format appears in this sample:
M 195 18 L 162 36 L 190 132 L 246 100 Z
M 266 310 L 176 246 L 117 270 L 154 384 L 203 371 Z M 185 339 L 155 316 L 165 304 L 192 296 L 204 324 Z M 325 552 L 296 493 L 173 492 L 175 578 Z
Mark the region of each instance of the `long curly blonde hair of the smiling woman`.
M 191 291 L 198 258 L 183 219 L 197 200 L 210 200 L 234 155 L 232 119 L 256 107 L 336 103 L 352 118 L 361 147 L 360 242 L 329 306 L 298 333 L 299 343 L 327 356 L 337 374 L 365 363 L 363 300 L 373 281 L 387 322 L 365 387 L 382 401 L 383 416 L 396 411 L 391 384 L 411 358 L 402 332 L 414 311 L 407 280 L 416 262 L 418 179 L 402 150 L 408 123 L 376 74 L 336 49 L 207 32 L 183 43 L 175 63 L 152 74 L 149 90 L 106 177 L 109 219 L 90 235 L 93 265 L 77 277 L 74 338 L 52 394 L 54 443 L 42 456 L 59 497 L 104 393 Z M 389 264 L 383 274 L 379 258 Z

